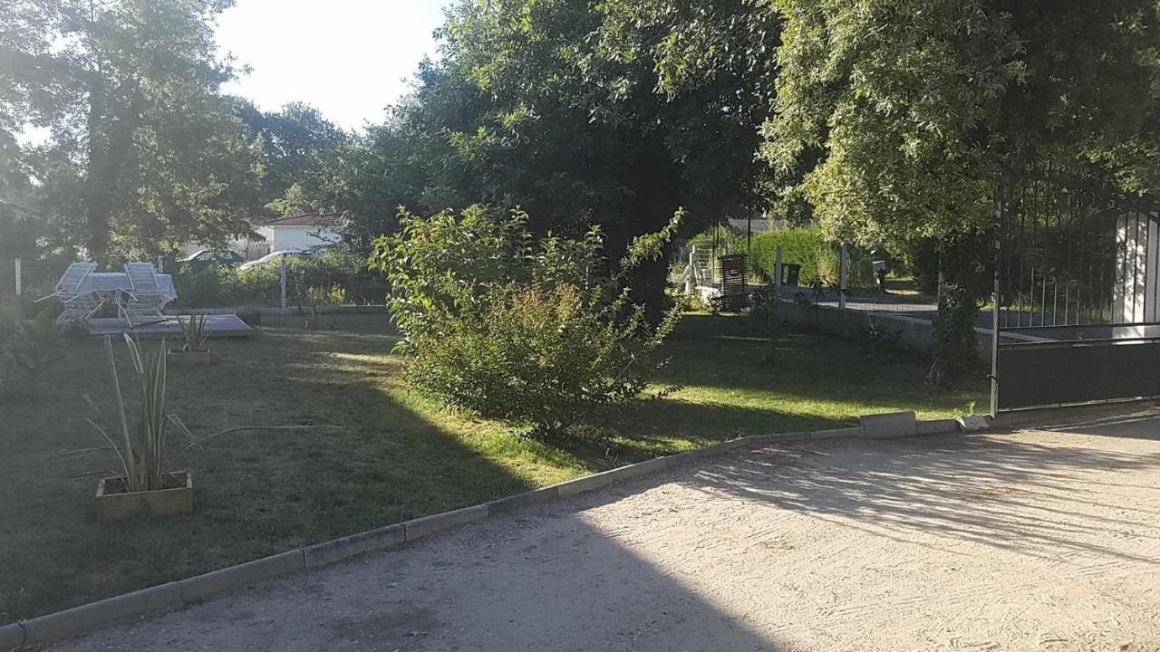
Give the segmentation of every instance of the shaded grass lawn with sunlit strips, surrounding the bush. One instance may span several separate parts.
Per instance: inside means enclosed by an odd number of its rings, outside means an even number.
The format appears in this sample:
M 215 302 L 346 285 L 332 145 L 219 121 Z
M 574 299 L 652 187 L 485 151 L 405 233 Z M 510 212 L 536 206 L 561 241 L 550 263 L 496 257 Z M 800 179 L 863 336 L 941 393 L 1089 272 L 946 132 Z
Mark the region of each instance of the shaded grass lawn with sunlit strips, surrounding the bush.
M 194 450 L 173 439 L 171 468 L 194 473 L 190 517 L 100 524 L 95 478 L 70 479 L 117 464 L 108 450 L 84 450 L 103 443 L 85 422 L 84 394 L 109 401 L 99 341 L 68 341 L 36 396 L 0 398 L 0 623 L 658 454 L 869 412 L 945 416 L 983 396 L 929 393 L 921 356 L 797 331 L 778 333 L 766 364 L 769 343 L 749 319 L 690 316 L 658 378 L 683 390 L 608 419 L 604 443 L 560 450 L 408 391 L 385 317 L 338 323 L 303 331 L 299 318 L 267 319 L 253 338 L 213 340 L 212 367 L 171 368 L 169 411 L 195 434 L 343 428 L 237 434 Z

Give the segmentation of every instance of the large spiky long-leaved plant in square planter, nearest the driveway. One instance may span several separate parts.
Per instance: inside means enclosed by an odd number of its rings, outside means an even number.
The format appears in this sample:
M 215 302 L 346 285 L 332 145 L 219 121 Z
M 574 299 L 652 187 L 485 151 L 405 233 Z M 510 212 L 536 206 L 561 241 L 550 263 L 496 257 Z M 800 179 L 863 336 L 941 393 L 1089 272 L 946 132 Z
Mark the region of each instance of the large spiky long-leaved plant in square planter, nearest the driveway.
M 155 350 L 143 350 L 140 343 L 124 335 L 133 371 L 140 381 L 140 415 L 130 428 L 125 403 L 121 393 L 121 378 L 113 355 L 113 339 L 104 338 L 104 355 L 109 362 L 109 379 L 114 392 L 115 436 L 96 421 L 87 421 L 109 443 L 121 461 L 121 473 L 107 477 L 96 487 L 96 517 L 99 521 L 119 520 L 138 513 L 155 515 L 189 514 L 194 510 L 194 483 L 189 471 L 168 471 L 165 445 L 169 427 L 189 437 L 190 447 L 225 434 L 244 430 L 300 430 L 338 428 L 338 426 L 241 426 L 195 437 L 176 414 L 167 414 L 166 401 L 166 343 L 161 340 Z M 89 404 L 96 408 L 88 397 Z

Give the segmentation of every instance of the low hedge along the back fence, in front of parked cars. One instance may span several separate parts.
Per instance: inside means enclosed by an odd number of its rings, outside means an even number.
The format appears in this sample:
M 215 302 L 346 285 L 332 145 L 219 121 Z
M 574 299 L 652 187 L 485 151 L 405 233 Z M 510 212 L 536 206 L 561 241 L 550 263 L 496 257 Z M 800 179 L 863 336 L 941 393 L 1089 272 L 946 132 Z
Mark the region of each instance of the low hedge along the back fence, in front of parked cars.
M 239 269 L 209 266 L 191 270 L 180 267 L 174 274 L 179 300 L 186 307 L 278 305 L 281 266 L 278 261 Z M 305 306 L 311 288 L 341 288 L 348 303 L 380 304 L 386 297 L 383 276 L 367 267 L 364 255 L 328 251 L 302 258 L 287 256 L 287 300 Z

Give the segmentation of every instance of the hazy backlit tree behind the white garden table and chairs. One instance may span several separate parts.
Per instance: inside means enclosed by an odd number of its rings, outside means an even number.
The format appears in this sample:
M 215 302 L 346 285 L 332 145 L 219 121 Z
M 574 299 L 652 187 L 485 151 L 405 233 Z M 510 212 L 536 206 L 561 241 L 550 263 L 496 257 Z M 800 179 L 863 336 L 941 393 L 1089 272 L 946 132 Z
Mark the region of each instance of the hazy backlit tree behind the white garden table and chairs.
M 89 255 L 152 255 L 249 231 L 260 168 L 218 93 L 233 71 L 213 44 L 212 19 L 229 5 L 15 0 L 0 9 L 0 129 L 51 129 L 46 151 L 29 157 L 46 168 L 31 172 Z

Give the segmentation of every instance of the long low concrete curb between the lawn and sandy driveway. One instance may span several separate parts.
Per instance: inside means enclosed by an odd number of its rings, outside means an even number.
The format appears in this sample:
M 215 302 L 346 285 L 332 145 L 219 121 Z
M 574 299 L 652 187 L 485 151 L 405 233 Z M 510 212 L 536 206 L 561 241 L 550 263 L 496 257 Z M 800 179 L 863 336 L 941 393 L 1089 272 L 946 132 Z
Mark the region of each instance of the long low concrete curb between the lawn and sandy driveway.
M 959 423 L 955 419 L 918 421 L 916 426 L 919 435 L 945 434 L 959 430 Z M 907 435 L 913 434 L 907 433 Z M 862 426 L 828 430 L 771 433 L 768 435 L 752 435 L 728 440 L 665 457 L 654 457 L 601 473 L 593 473 L 592 476 L 585 476 L 557 485 L 500 498 L 483 505 L 473 505 L 451 512 L 412 519 L 401 523 L 280 552 L 202 575 L 171 581 L 72 609 L 46 614 L 19 623 L 0 625 L 0 650 L 9 650 L 30 643 L 48 643 L 115 621 L 153 611 L 177 609 L 211 595 L 247 586 L 260 580 L 305 568 L 316 568 L 349 559 L 364 552 L 398 548 L 405 543 L 445 533 L 465 523 L 507 514 L 534 505 L 556 502 L 563 498 L 597 490 L 616 481 L 639 478 L 689 462 L 724 455 L 731 450 L 747 445 L 838 437 L 868 437 L 868 433 Z

